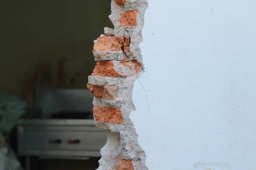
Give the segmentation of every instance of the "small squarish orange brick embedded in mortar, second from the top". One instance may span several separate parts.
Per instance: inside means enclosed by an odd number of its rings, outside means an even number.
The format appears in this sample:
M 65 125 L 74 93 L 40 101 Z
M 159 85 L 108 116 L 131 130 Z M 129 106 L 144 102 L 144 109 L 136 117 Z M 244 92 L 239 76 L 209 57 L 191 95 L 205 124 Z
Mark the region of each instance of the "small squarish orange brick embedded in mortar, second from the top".
M 137 25 L 137 13 L 138 10 L 131 10 L 120 14 L 119 22 L 121 27 Z

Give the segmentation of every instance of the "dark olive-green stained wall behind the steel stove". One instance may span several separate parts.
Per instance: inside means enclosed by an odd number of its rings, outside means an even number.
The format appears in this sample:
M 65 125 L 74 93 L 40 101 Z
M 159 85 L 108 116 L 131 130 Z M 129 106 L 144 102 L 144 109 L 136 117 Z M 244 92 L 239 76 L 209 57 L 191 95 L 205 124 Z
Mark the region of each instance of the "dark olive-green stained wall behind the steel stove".
M 86 88 L 109 14 L 108 0 L 1 0 L 0 89 L 31 104 L 35 88 Z

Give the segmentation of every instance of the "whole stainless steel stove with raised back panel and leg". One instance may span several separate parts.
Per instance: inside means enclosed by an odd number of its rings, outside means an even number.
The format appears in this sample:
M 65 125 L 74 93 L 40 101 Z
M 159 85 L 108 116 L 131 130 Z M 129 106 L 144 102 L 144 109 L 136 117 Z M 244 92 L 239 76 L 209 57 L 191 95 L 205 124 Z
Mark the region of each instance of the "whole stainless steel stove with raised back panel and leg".
M 20 119 L 19 155 L 41 159 L 100 157 L 106 133 L 92 119 L 88 90 L 36 90 L 35 118 Z

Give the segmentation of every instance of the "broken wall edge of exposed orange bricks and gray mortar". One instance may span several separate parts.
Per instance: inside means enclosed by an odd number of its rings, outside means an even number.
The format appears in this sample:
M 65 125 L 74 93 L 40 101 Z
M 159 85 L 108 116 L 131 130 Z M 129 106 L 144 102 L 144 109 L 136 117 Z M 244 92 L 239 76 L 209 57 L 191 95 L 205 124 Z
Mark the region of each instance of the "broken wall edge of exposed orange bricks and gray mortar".
M 141 29 L 147 0 L 111 0 L 109 18 L 114 29 L 105 27 L 94 41 L 97 65 L 88 77 L 88 89 L 95 96 L 95 124 L 106 129 L 108 141 L 100 150 L 99 170 L 144 170 L 145 152 L 129 118 L 134 81 L 143 73 L 140 52 Z

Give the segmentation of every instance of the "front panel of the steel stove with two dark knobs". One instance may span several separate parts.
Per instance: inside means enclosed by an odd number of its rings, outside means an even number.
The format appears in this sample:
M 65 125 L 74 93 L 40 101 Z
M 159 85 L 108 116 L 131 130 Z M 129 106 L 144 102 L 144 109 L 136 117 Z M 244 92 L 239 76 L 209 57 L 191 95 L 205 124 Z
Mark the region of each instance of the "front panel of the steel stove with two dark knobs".
M 100 157 L 106 143 L 106 132 L 95 127 L 94 120 L 22 119 L 18 131 L 19 155 L 26 157 Z

